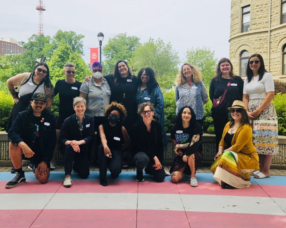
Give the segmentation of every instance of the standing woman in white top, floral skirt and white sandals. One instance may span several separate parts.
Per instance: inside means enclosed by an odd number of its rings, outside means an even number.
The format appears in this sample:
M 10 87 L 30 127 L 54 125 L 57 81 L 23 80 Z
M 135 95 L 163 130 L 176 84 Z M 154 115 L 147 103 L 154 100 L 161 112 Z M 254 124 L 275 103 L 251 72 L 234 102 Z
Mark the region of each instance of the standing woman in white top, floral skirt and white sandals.
M 243 88 L 243 102 L 253 121 L 253 144 L 260 161 L 260 170 L 252 173 L 254 178 L 269 177 L 273 155 L 278 154 L 278 120 L 273 103 L 274 82 L 265 70 L 261 55 L 252 55 L 246 69 L 247 78 Z

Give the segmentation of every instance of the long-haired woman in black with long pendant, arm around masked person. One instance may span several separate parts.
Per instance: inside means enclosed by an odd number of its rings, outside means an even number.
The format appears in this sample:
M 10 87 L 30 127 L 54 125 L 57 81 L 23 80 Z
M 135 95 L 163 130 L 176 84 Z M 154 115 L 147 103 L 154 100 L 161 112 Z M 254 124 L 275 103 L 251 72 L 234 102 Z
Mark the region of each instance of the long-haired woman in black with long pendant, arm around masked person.
M 128 64 L 124 60 L 116 62 L 113 74 L 109 74 L 104 78 L 110 85 L 110 101 L 120 103 L 126 108 L 127 116 L 122 125 L 130 135 L 132 125 L 137 120 L 135 95 L 138 88 L 138 80 L 136 76 L 132 75 Z M 128 169 L 127 152 L 123 156 L 122 169 Z

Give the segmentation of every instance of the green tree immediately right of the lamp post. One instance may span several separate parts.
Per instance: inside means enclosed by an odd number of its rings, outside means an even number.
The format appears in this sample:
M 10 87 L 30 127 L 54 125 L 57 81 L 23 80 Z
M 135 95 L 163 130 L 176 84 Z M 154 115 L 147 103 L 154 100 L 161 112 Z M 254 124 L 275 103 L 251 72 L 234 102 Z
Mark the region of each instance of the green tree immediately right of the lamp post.
M 128 61 L 133 57 L 133 52 L 141 46 L 140 38 L 136 36 L 127 36 L 127 33 L 120 33 L 108 42 L 102 48 L 105 57 L 103 63 L 104 74 L 111 74 L 114 65 L 118 60 Z

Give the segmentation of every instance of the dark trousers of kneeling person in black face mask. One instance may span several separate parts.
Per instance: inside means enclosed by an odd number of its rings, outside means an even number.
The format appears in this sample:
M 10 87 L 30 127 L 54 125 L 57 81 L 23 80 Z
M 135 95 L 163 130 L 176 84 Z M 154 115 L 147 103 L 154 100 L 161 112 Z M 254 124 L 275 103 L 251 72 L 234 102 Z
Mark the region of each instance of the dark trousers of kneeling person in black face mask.
M 104 154 L 103 146 L 98 147 L 98 163 L 99 163 L 99 178 L 106 178 L 107 166 L 109 163 L 109 171 L 112 177 L 118 177 L 121 173 L 123 152 L 120 150 L 110 149 L 112 158 L 108 158 Z

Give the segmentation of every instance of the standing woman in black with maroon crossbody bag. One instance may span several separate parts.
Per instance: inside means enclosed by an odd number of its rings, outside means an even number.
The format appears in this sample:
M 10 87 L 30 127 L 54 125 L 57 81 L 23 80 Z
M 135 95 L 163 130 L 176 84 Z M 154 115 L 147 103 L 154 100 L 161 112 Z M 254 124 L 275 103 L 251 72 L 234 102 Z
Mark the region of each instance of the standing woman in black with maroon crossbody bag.
M 228 58 L 222 58 L 217 64 L 217 73 L 210 82 L 210 100 L 221 97 L 227 90 L 225 102 L 219 105 L 218 109 L 212 106 L 212 118 L 214 120 L 215 135 L 216 135 L 216 151 L 219 150 L 219 142 L 223 135 L 223 129 L 228 122 L 227 109 L 235 100 L 242 100 L 243 80 L 239 76 L 233 74 L 233 65 Z

